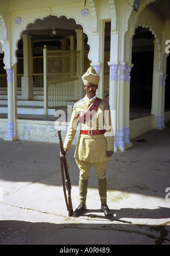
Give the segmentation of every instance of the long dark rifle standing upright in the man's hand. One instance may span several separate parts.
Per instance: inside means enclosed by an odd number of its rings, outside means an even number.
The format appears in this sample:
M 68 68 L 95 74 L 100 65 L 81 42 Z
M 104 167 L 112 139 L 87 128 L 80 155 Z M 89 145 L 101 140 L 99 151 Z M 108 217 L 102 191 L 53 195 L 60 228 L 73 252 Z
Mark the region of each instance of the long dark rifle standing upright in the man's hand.
M 63 192 L 64 192 L 64 196 L 65 196 L 67 211 L 69 211 L 69 216 L 72 216 L 73 215 L 73 205 L 72 205 L 72 201 L 71 201 L 71 181 L 70 181 L 67 160 L 66 160 L 66 157 L 64 156 L 65 152 L 63 149 L 61 131 L 58 131 L 58 138 L 59 138 L 59 145 L 61 148 L 60 162 L 61 162 Z M 67 198 L 66 190 L 68 192 L 68 198 Z

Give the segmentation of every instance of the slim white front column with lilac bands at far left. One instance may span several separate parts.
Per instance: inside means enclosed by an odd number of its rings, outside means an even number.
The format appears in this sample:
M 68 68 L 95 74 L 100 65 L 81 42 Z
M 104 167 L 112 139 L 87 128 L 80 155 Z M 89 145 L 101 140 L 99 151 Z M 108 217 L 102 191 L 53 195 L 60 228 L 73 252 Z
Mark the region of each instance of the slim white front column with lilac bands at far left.
M 16 135 L 17 99 L 16 99 L 16 68 L 5 68 L 7 73 L 8 92 L 8 127 L 4 140 L 18 140 Z

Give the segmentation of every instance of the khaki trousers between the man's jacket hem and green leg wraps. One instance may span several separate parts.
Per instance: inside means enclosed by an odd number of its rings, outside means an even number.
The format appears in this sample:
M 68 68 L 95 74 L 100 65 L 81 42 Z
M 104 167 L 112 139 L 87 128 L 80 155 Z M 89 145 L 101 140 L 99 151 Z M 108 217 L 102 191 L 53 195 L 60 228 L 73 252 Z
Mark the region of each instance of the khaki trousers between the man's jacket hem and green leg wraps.
M 80 170 L 79 178 L 82 180 L 87 180 L 90 174 L 91 162 L 81 161 L 77 159 L 75 159 L 75 161 Z M 106 167 L 107 167 L 107 161 L 94 163 L 94 168 L 95 168 L 98 179 L 105 179 Z

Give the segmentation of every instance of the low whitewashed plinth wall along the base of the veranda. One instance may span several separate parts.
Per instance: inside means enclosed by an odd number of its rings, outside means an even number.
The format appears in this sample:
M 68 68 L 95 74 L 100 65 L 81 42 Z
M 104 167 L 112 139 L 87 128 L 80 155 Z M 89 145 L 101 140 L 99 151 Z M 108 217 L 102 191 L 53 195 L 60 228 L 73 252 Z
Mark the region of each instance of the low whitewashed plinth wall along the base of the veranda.
M 170 121 L 170 111 L 165 112 L 165 123 Z M 7 119 L 0 119 L 0 139 L 7 135 Z M 62 130 L 62 139 L 65 139 L 67 124 L 54 121 L 17 120 L 17 136 L 19 140 L 42 141 L 58 143 L 57 131 Z M 151 131 L 154 125 L 154 115 L 130 120 L 130 140 Z M 79 131 L 73 140 L 73 145 L 78 141 Z

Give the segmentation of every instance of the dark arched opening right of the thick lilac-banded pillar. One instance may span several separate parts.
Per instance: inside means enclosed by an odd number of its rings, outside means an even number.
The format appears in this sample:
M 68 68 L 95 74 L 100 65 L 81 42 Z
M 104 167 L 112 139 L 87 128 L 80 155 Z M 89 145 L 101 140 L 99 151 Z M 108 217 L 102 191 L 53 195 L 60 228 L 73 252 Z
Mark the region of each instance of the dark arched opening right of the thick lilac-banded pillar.
M 133 37 L 130 81 L 130 111 L 151 112 L 154 66 L 154 35 L 148 28 L 138 27 Z

